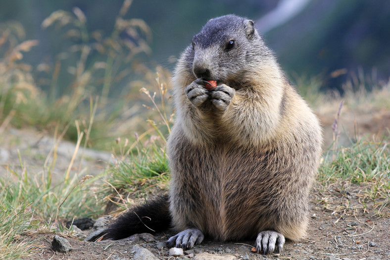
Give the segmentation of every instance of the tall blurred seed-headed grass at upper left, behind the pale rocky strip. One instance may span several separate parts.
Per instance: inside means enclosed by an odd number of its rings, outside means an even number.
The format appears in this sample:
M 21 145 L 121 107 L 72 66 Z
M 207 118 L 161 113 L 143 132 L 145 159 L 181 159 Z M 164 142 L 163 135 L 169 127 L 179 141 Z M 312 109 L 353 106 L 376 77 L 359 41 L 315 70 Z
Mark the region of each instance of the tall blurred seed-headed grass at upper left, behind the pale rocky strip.
M 152 118 L 152 113 L 142 106 L 147 100 L 138 89 L 159 82 L 155 72 L 135 60 L 150 52 L 151 32 L 142 20 L 123 18 L 130 3 L 124 1 L 110 35 L 88 32 L 87 18 L 78 8 L 52 13 L 42 27 L 69 47 L 36 66 L 23 62 L 23 56 L 40 43 L 23 40 L 20 24 L 0 25 L 0 133 L 9 124 L 51 133 L 58 128 L 65 139 L 76 142 L 78 120 L 81 131 L 89 132 L 88 147 L 111 150 L 118 136 L 144 132 L 142 117 Z M 170 77 L 164 68 L 156 69 L 159 80 Z M 86 125 L 95 106 L 95 123 Z

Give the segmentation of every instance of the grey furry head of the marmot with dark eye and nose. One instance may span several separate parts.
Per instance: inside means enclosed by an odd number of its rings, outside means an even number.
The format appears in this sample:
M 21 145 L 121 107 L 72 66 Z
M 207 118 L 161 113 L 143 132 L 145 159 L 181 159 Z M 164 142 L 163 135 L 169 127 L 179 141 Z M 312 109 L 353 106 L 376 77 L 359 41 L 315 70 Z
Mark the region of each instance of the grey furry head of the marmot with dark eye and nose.
M 233 88 L 240 88 L 247 75 L 272 58 L 253 21 L 236 15 L 209 20 L 184 55 L 195 78 L 215 80 Z

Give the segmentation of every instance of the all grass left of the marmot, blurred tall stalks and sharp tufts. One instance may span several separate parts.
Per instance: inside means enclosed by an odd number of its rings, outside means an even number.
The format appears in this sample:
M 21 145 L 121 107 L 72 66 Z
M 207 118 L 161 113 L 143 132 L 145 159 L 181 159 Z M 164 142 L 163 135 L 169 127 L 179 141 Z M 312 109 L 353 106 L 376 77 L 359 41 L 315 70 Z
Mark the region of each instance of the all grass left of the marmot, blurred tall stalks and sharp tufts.
M 169 99 L 164 82 L 170 74 L 157 67 L 156 75 L 134 60 L 139 53 L 149 52 L 150 29 L 141 20 L 123 18 L 130 3 L 124 1 L 108 36 L 87 32 L 87 18 L 78 8 L 73 13 L 54 12 L 43 22 L 43 28 L 55 35 L 63 34 L 74 43 L 67 50 L 69 56 L 79 56 L 73 64 L 72 60 L 64 60 L 61 53 L 51 64 L 34 67 L 25 63 L 23 55 L 34 50 L 39 42 L 23 40 L 23 27 L 18 23 L 0 25 L 0 134 L 10 126 L 33 127 L 51 133 L 56 141 L 43 170 L 33 169 L 20 155 L 20 165 L 5 165 L 7 174 L 0 176 L 0 259 L 19 259 L 36 249 L 26 235 L 41 232 L 42 227 L 54 232 L 55 222 L 102 214 L 106 203 L 102 197 L 111 195 L 115 187 L 140 187 L 150 182 L 149 178 L 156 179 L 152 185 L 167 185 L 163 147 L 171 109 L 164 105 Z M 131 37 L 123 37 L 125 34 Z M 64 74 L 71 81 L 60 92 L 58 86 Z M 121 95 L 110 95 L 114 85 L 123 86 Z M 158 91 L 139 92 L 144 86 Z M 157 120 L 160 116 L 166 127 Z M 146 122 L 145 118 L 149 120 Z M 134 135 L 138 132 L 142 134 Z M 132 135 L 128 136 L 129 133 Z M 125 140 L 124 146 L 120 137 Z M 77 143 L 76 151 L 63 177 L 53 183 L 57 142 L 62 139 Z M 105 176 L 88 179 L 82 172 L 71 174 L 71 168 L 77 167 L 77 150 L 88 147 L 115 147 L 112 152 L 117 163 Z M 129 172 L 131 177 L 126 176 Z M 104 182 L 105 179 L 108 181 Z

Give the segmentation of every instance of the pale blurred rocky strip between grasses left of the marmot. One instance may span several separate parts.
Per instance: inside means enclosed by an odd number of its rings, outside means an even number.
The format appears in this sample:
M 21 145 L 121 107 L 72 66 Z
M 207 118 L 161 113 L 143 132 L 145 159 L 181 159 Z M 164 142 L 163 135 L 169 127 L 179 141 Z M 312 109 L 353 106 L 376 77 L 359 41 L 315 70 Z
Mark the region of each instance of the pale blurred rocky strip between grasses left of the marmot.
M 76 150 L 77 154 L 71 164 Z M 70 176 L 96 175 L 103 172 L 107 163 L 112 160 L 111 153 L 83 149 L 83 144 L 76 149 L 74 143 L 58 140 L 46 132 L 14 128 L 0 132 L 0 177 L 8 176 L 10 170 L 20 173 L 23 171 L 22 167 L 35 175 L 50 167 L 55 183 L 58 179 L 63 179 L 62 175 L 70 164 Z

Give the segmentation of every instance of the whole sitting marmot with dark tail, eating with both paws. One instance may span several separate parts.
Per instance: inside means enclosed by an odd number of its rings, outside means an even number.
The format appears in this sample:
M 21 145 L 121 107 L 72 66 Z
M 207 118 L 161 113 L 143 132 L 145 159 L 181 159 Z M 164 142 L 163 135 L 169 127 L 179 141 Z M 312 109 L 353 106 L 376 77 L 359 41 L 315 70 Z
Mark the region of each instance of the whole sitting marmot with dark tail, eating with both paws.
M 257 238 L 264 254 L 301 239 L 321 128 L 253 21 L 209 20 L 182 53 L 173 84 L 170 194 L 123 214 L 106 237 L 171 225 L 179 233 L 168 247 Z

